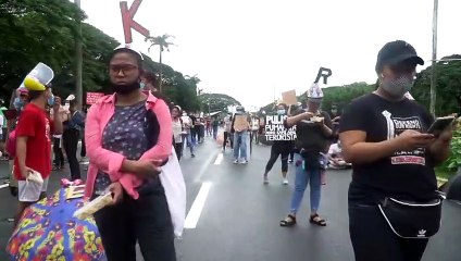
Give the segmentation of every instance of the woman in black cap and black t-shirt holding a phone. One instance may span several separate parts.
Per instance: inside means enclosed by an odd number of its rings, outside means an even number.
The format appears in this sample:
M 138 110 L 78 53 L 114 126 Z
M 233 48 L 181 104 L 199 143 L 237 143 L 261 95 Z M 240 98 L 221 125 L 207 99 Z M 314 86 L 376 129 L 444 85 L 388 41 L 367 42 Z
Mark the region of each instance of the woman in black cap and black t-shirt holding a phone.
M 353 164 L 348 200 L 356 260 L 421 260 L 438 231 L 434 166 L 448 158 L 452 133 L 427 134 L 432 116 L 406 98 L 423 63 L 409 44 L 386 44 L 377 55 L 378 88 L 342 114 L 342 153 Z

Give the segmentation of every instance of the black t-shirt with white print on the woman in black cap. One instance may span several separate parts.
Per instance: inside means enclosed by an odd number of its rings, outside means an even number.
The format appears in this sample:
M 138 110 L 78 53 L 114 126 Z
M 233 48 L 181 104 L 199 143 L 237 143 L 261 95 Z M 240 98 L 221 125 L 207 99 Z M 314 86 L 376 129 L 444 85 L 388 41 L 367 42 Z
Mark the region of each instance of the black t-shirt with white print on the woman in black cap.
M 370 94 L 346 108 L 339 132 L 362 130 L 366 133 L 366 142 L 379 142 L 406 129 L 425 132 L 432 122 L 427 111 L 414 101 L 391 102 Z M 424 148 L 398 151 L 366 164 L 353 164 L 352 170 L 349 200 L 375 202 L 390 196 L 423 201 L 435 197 L 434 163 Z

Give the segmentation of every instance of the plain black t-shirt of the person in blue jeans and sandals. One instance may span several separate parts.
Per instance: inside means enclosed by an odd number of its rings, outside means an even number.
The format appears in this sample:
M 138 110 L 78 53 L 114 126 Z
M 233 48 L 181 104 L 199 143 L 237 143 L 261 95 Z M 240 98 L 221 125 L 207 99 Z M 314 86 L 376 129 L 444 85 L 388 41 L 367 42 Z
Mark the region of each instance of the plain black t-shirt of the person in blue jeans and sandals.
M 291 115 L 296 116 L 306 112 L 306 110 L 295 111 Z M 320 112 L 320 117 L 324 117 L 324 123 L 327 127 L 332 128 L 332 119 L 328 113 Z M 297 149 L 304 149 L 308 151 L 326 152 L 328 150 L 329 136 L 326 136 L 322 130 L 322 125 L 312 123 L 310 121 L 300 121 L 296 124 L 296 140 L 295 147 Z

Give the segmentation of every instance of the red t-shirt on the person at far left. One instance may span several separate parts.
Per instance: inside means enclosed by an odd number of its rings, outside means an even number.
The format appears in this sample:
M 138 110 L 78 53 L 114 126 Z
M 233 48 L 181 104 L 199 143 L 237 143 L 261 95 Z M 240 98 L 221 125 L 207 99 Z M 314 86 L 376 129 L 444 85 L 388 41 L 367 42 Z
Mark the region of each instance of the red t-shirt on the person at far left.
M 45 110 L 29 103 L 21 113 L 15 128 L 16 138 L 28 137 L 26 166 L 39 172 L 43 178 L 47 178 L 51 173 L 52 126 L 53 124 Z M 21 175 L 17 157 L 14 159 L 14 175 L 18 181 L 24 181 Z

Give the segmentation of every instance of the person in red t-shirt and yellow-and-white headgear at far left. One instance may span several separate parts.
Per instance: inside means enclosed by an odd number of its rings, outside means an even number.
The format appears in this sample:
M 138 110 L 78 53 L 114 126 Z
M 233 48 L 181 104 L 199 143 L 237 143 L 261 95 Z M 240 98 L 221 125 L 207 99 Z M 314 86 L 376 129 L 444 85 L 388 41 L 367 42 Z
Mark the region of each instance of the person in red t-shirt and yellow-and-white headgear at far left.
M 21 113 L 16 136 L 16 157 L 14 158 L 14 175 L 18 188 L 18 209 L 14 221 L 17 225 L 24 210 L 39 199 L 46 197 L 48 177 L 51 173 L 51 135 L 62 133 L 59 114 L 61 99 L 54 97 L 51 88 L 43 84 L 29 87 L 29 103 Z M 46 107 L 53 108 L 53 121 L 46 112 Z M 30 189 L 27 177 L 33 172 L 40 173 L 43 178 L 41 189 Z

